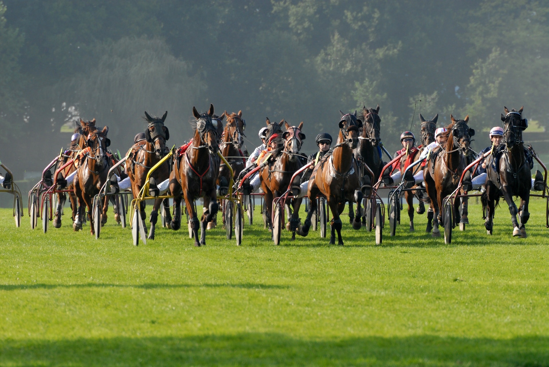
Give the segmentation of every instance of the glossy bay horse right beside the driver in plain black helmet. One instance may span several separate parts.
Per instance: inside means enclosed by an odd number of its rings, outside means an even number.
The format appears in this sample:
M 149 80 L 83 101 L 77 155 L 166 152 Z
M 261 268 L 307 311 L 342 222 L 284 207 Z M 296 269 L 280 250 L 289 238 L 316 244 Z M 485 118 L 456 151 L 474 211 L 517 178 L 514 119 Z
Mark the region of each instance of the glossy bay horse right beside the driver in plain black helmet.
M 311 207 L 299 232 L 300 235 L 306 236 L 309 233 L 311 217 L 317 210 L 316 198 L 319 194 L 326 196 L 333 214 L 332 221 L 330 221 L 332 229 L 330 244 L 335 244 L 335 231 L 337 230 L 338 244 L 343 245 L 341 238 L 343 225 L 339 215 L 345 208 L 345 201 L 356 202 L 356 218 L 360 218 L 362 192 L 357 188 L 360 188 L 361 177 L 353 154 L 353 150 L 358 145 L 358 129 L 360 127 L 362 127 L 362 121 L 356 117 L 356 111 L 355 114 L 341 112 L 337 144 L 330 154 L 324 155 L 322 160 L 317 163 L 309 179 L 307 194 L 311 201 Z M 360 229 L 361 226 L 360 220 L 352 222 L 354 229 Z

